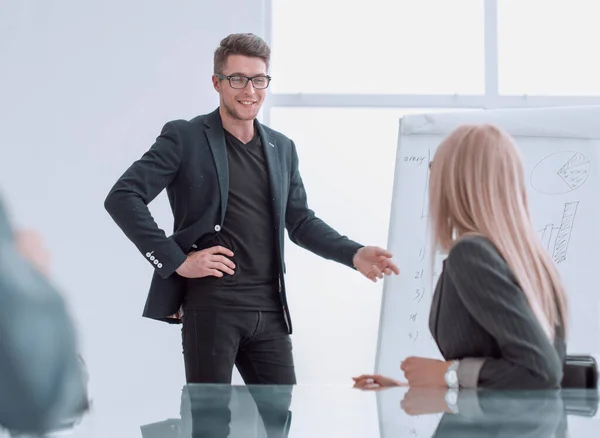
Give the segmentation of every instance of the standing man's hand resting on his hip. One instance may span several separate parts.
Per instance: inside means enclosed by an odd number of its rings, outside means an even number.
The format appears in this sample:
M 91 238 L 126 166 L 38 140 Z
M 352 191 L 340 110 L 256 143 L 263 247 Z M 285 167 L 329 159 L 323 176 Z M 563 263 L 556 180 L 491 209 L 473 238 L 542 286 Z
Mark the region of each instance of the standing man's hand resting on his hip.
M 222 246 L 193 252 L 177 268 L 177 273 L 186 278 L 222 277 L 224 273 L 233 275 L 235 264 L 225 256 L 233 257 L 233 252 Z

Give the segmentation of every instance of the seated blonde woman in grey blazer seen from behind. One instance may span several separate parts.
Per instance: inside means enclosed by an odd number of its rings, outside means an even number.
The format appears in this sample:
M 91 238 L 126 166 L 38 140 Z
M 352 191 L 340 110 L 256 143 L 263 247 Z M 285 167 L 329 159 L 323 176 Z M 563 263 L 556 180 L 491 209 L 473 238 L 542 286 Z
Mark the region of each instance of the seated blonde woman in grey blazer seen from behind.
M 511 137 L 491 125 L 455 129 L 431 163 L 429 205 L 433 249 L 448 254 L 429 316 L 445 360 L 404 360 L 408 385 L 560 387 L 567 299 L 532 224 Z M 359 388 L 405 384 L 354 380 Z

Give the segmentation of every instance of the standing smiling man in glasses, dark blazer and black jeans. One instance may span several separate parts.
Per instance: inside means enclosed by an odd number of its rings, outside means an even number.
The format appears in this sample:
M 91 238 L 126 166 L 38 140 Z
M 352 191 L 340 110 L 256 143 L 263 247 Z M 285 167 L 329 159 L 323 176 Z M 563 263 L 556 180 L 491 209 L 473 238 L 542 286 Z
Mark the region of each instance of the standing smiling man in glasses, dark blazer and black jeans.
M 256 120 L 269 86 L 270 49 L 232 34 L 214 54 L 220 105 L 168 122 L 119 178 L 105 207 L 154 267 L 144 316 L 183 322 L 188 383 L 295 384 L 284 283 L 292 242 L 372 281 L 398 274 L 392 255 L 362 246 L 307 205 L 292 140 Z M 167 237 L 147 204 L 163 189 L 174 216 Z

